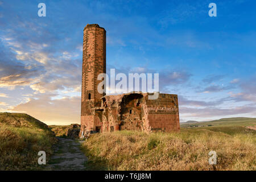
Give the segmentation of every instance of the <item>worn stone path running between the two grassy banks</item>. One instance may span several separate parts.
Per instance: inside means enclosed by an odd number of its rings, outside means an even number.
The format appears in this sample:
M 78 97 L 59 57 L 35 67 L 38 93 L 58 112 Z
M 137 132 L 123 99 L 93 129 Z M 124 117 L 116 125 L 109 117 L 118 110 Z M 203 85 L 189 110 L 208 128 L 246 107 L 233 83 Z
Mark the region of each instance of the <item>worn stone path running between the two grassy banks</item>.
M 81 151 L 81 141 L 57 137 L 59 142 L 54 146 L 54 154 L 48 162 L 49 170 L 84 170 L 88 160 Z

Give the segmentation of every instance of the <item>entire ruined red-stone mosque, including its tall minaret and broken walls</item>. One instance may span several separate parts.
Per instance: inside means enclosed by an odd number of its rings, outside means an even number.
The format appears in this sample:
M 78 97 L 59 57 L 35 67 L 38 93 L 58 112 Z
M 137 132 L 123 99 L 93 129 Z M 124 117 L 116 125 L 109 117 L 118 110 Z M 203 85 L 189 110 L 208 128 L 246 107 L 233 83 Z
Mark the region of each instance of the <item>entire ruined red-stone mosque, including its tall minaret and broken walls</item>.
M 106 96 L 97 91 L 100 73 L 106 73 L 106 31 L 98 24 L 84 28 L 80 135 L 118 130 L 179 131 L 176 94 L 133 92 Z M 104 88 L 106 89 L 106 88 Z

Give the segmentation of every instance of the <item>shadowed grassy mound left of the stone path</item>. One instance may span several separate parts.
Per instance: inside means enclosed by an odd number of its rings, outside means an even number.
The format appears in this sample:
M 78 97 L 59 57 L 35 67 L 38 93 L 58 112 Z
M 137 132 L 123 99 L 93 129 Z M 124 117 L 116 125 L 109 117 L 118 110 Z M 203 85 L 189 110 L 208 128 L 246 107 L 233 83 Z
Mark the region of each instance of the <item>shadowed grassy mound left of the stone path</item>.
M 42 169 L 38 152 L 52 154 L 55 134 L 27 114 L 0 113 L 0 170 Z

